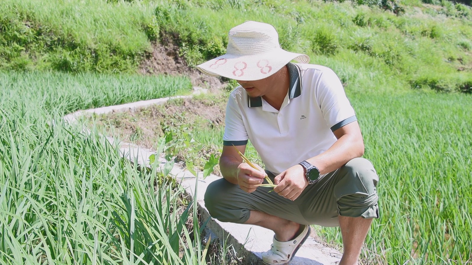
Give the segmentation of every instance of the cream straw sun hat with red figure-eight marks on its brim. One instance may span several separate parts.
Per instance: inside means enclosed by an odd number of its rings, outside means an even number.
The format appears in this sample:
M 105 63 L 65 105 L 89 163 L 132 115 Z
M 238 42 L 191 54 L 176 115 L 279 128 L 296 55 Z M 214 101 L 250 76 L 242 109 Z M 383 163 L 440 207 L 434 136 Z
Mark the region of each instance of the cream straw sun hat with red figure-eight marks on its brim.
M 280 48 L 272 25 L 246 21 L 229 31 L 225 55 L 197 65 L 197 69 L 211 76 L 251 81 L 274 74 L 292 60 L 308 63 L 310 57 Z

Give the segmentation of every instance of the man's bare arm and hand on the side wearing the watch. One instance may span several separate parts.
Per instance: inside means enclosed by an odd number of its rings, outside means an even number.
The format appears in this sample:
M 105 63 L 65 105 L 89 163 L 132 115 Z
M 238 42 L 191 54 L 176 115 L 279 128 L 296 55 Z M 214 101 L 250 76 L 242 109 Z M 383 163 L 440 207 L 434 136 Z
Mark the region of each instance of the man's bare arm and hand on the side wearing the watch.
M 325 152 L 307 160 L 320 169 L 320 174 L 339 169 L 364 154 L 364 141 L 357 121 L 338 128 L 333 133 L 337 141 Z M 293 201 L 300 196 L 308 181 L 304 176 L 303 167 L 295 165 L 275 177 L 274 184 L 277 185 L 274 192 Z

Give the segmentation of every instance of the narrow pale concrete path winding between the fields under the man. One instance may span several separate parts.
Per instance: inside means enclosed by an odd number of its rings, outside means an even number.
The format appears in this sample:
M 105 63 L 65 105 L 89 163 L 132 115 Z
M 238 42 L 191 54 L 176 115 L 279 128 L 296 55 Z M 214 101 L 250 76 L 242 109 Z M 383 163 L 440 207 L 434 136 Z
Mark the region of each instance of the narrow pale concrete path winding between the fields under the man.
M 194 89 L 196 93 L 206 92 L 201 88 Z M 198 92 L 200 91 L 200 92 Z M 178 96 L 183 97 L 183 96 Z M 187 97 L 187 96 L 185 96 Z M 85 111 L 74 112 L 64 117 L 67 122 L 75 122 L 82 115 L 90 115 L 92 113 L 103 114 L 110 112 L 124 112 L 135 110 L 152 104 L 163 104 L 170 98 L 140 101 L 135 103 L 109 106 L 104 108 L 90 109 Z M 113 143 L 115 139 L 107 137 Z M 149 166 L 149 157 L 155 154 L 154 151 L 148 150 L 136 145 L 121 142 L 121 154 L 132 162 L 136 162 L 141 166 Z M 161 168 L 167 163 L 163 158 L 160 158 Z M 210 218 L 210 215 L 205 208 L 203 195 L 205 194 L 207 186 L 218 176 L 211 175 L 205 179 L 202 176 L 196 178 L 192 173 L 181 168 L 179 164 L 175 164 L 170 174 L 180 181 L 192 198 L 198 203 L 198 208 L 202 216 L 202 222 Z M 202 172 L 200 172 L 202 174 Z M 272 243 L 273 232 L 255 225 L 239 225 L 232 223 L 223 223 L 218 220 L 210 218 L 207 223 L 207 233 L 213 234 L 212 238 L 218 237 L 220 241 L 226 240 L 227 245 L 231 244 L 236 250 L 238 257 L 241 257 L 244 264 L 262 265 L 261 253 L 270 249 Z M 341 254 L 332 248 L 323 245 L 316 241 L 313 237 L 309 237 L 303 246 L 296 253 L 295 258 L 290 265 L 336 265 L 339 263 Z

